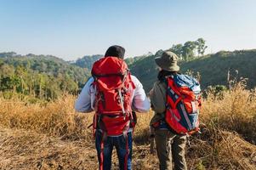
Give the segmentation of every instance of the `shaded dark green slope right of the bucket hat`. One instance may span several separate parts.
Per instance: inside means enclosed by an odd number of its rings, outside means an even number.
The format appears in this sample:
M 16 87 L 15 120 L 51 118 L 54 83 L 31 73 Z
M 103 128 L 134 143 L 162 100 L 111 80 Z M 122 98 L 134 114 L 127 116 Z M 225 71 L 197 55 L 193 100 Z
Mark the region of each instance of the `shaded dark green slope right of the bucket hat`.
M 198 71 L 201 74 L 202 88 L 213 85 L 226 85 L 230 71 L 230 79 L 248 78 L 247 88 L 256 86 L 256 50 L 227 52 L 195 59 L 182 65 L 182 71 Z

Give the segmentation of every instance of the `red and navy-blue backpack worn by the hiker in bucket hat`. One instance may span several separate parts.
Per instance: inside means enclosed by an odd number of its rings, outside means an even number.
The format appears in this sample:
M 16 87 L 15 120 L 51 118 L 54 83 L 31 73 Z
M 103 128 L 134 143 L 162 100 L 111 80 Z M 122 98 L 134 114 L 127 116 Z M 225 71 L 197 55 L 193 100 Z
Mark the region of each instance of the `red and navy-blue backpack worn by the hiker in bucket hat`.
M 167 83 L 165 121 L 176 133 L 198 132 L 201 107 L 199 82 L 187 75 L 174 75 L 167 78 Z

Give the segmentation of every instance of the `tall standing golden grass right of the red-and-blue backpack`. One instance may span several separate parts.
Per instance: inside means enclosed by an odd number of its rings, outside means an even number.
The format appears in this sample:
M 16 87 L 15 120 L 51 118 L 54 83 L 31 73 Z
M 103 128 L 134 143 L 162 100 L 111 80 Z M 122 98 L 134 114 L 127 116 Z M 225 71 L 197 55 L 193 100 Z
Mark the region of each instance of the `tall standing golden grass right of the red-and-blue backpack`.
M 202 122 L 208 128 L 236 131 L 256 144 L 256 93 L 240 82 L 220 96 L 208 94 L 202 107 Z

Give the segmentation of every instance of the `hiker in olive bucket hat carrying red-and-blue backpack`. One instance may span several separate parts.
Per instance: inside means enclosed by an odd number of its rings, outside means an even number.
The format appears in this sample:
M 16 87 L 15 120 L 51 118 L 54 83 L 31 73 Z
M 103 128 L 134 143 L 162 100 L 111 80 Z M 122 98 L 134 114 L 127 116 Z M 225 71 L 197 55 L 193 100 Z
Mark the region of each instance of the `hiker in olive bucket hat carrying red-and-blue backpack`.
M 200 84 L 195 78 L 179 73 L 176 54 L 164 51 L 155 61 L 160 71 L 150 92 L 155 111 L 151 127 L 155 130 L 159 167 L 173 169 L 174 159 L 175 170 L 186 170 L 186 139 L 199 131 Z

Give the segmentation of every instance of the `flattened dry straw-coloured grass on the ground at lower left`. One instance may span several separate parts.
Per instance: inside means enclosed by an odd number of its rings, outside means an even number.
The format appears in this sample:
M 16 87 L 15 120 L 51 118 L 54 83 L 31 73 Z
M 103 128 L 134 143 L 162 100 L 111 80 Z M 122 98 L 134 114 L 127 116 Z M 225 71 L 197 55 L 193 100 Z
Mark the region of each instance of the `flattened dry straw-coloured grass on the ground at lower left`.
M 0 137 L 0 169 L 88 169 L 95 164 L 93 146 L 84 140 L 67 142 L 10 129 L 2 129 Z

